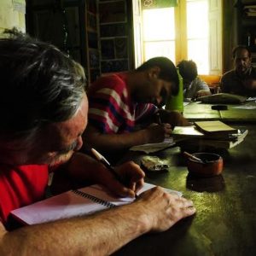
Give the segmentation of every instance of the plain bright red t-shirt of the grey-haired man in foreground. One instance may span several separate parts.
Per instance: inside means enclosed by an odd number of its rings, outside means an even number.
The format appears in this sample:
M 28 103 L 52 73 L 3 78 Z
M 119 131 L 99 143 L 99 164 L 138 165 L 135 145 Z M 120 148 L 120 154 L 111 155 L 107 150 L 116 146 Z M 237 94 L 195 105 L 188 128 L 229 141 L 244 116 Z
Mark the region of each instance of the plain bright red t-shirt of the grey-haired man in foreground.
M 44 199 L 49 166 L 0 165 L 0 221 L 6 224 L 9 212 Z

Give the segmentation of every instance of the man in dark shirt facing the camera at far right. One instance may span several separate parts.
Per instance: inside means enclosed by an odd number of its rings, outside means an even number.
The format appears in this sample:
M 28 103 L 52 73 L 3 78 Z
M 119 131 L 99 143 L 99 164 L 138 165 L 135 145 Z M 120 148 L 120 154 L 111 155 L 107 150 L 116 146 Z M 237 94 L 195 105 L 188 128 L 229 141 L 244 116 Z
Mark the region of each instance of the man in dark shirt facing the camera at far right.
M 222 76 L 221 92 L 256 96 L 256 69 L 252 67 L 250 50 L 244 45 L 238 45 L 232 50 L 232 56 L 235 68 Z

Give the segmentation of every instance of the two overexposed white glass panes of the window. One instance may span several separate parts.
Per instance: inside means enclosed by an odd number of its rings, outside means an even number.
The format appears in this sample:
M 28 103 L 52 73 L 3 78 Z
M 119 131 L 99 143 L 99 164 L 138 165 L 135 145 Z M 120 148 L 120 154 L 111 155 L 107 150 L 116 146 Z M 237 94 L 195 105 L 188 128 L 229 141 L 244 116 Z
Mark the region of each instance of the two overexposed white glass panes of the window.
M 180 2 L 186 4 L 186 10 L 181 12 L 187 18 L 186 31 L 182 30 L 181 24 L 175 24 L 175 8 L 143 9 L 143 59 L 148 61 L 155 56 L 166 56 L 176 63 L 176 56 L 182 56 L 195 61 L 198 73 L 208 74 L 208 0 Z M 176 38 L 176 29 L 180 38 Z M 179 45 L 180 52 L 176 52 L 175 45 Z

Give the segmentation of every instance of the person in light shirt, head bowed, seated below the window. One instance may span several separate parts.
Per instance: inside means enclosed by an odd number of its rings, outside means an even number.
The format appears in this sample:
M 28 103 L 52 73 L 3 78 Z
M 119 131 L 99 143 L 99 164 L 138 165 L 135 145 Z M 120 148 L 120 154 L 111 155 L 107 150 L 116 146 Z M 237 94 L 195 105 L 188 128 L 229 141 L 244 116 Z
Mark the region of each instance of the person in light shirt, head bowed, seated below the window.
M 177 67 L 180 75 L 183 77 L 184 99 L 195 99 L 197 97 L 211 95 L 207 83 L 197 76 L 197 67 L 194 61 L 180 61 Z

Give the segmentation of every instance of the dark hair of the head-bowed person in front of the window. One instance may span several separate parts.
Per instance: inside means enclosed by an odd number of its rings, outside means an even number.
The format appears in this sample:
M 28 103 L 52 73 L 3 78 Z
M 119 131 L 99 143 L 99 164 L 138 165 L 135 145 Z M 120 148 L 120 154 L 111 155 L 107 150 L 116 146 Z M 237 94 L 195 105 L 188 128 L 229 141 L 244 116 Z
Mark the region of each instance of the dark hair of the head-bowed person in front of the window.
M 198 75 L 197 73 L 197 67 L 194 61 L 180 61 L 177 64 L 178 71 L 180 75 L 183 77 L 183 79 L 189 80 L 192 82 Z

